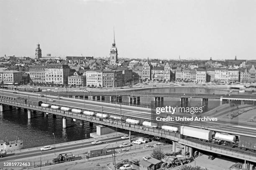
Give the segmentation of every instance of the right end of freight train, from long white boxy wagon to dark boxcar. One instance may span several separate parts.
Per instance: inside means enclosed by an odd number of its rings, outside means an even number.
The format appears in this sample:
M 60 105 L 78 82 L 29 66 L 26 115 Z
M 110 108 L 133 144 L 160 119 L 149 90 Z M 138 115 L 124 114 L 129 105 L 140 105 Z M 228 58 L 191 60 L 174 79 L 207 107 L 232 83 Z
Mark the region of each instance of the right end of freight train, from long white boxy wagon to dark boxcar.
M 180 134 L 185 138 L 202 140 L 218 145 L 228 145 L 232 148 L 238 147 L 243 150 L 251 150 L 256 152 L 256 138 L 248 136 L 231 135 L 228 133 L 219 132 L 215 133 L 212 130 L 193 128 L 189 126 L 181 126 Z

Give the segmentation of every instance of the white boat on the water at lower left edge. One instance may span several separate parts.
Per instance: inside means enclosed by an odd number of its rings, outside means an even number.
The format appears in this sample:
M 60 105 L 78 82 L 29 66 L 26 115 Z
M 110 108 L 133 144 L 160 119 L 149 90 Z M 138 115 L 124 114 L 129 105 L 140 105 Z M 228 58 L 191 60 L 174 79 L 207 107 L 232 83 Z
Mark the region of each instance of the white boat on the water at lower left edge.
M 19 150 L 23 148 L 23 140 L 11 140 L 11 141 L 3 141 L 0 140 L 0 151 L 12 151 Z

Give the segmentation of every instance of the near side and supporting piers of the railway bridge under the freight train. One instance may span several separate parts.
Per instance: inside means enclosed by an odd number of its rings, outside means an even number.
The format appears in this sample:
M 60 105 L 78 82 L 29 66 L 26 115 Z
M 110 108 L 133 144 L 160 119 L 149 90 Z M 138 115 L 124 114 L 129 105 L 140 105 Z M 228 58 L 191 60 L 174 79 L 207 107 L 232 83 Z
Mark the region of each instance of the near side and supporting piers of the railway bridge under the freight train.
M 13 94 L 13 95 L 17 95 L 17 94 Z M 72 113 L 72 112 L 65 112 L 62 110 L 56 110 L 48 107 L 41 107 L 38 105 L 34 105 L 34 103 L 20 103 L 20 102 L 17 102 L 16 100 L 13 100 L 13 98 L 15 97 L 8 97 L 5 99 L 3 97 L 0 97 L 0 103 L 5 105 L 15 106 L 17 109 L 19 109 L 20 107 L 27 109 L 28 118 L 31 118 L 32 110 L 41 111 L 43 113 L 47 112 L 52 115 L 60 115 L 63 117 L 62 119 L 63 128 L 66 128 L 66 125 L 67 125 L 66 117 L 71 117 L 72 119 L 80 120 L 80 124 L 82 124 L 83 121 L 88 121 L 91 123 L 112 126 L 116 128 L 126 129 L 130 131 L 135 131 L 139 133 L 160 136 L 162 138 L 170 139 L 173 141 L 174 151 L 177 150 L 177 145 L 181 145 L 184 148 L 184 152 L 188 151 L 190 156 L 192 156 L 193 150 L 205 150 L 215 154 L 225 155 L 233 158 L 239 158 L 245 161 L 256 163 L 256 154 L 253 154 L 251 152 L 246 152 L 244 150 L 237 151 L 237 150 L 233 150 L 233 148 L 227 148 L 222 145 L 215 145 L 212 143 L 201 143 L 200 141 L 195 142 L 195 141 L 182 139 L 180 138 L 179 133 L 174 133 L 174 132 L 166 131 L 162 129 L 146 128 L 141 125 L 133 125 L 126 122 L 117 121 L 117 120 L 104 119 L 102 117 L 100 118 L 100 117 L 93 117 L 93 116 L 88 116 L 83 114 Z M 67 107 L 67 101 L 64 103 L 61 103 L 61 106 Z M 0 106 L 0 111 L 3 111 L 3 106 Z

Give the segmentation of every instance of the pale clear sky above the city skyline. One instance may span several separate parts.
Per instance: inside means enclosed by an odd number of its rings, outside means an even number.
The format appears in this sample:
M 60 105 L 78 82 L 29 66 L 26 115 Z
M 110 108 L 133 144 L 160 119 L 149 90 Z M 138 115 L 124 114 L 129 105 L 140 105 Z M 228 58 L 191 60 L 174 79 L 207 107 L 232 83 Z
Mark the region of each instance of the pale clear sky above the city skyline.
M 0 0 L 0 56 L 256 59 L 256 0 Z

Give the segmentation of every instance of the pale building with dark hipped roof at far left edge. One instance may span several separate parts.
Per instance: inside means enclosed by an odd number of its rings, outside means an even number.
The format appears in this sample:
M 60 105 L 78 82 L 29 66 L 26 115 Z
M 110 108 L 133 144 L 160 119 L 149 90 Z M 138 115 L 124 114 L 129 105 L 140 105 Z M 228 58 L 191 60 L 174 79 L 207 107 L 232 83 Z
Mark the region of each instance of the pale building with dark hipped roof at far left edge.
M 22 82 L 22 72 L 16 70 L 2 70 L 0 72 L 0 82 L 3 84 L 20 84 L 20 82 Z

